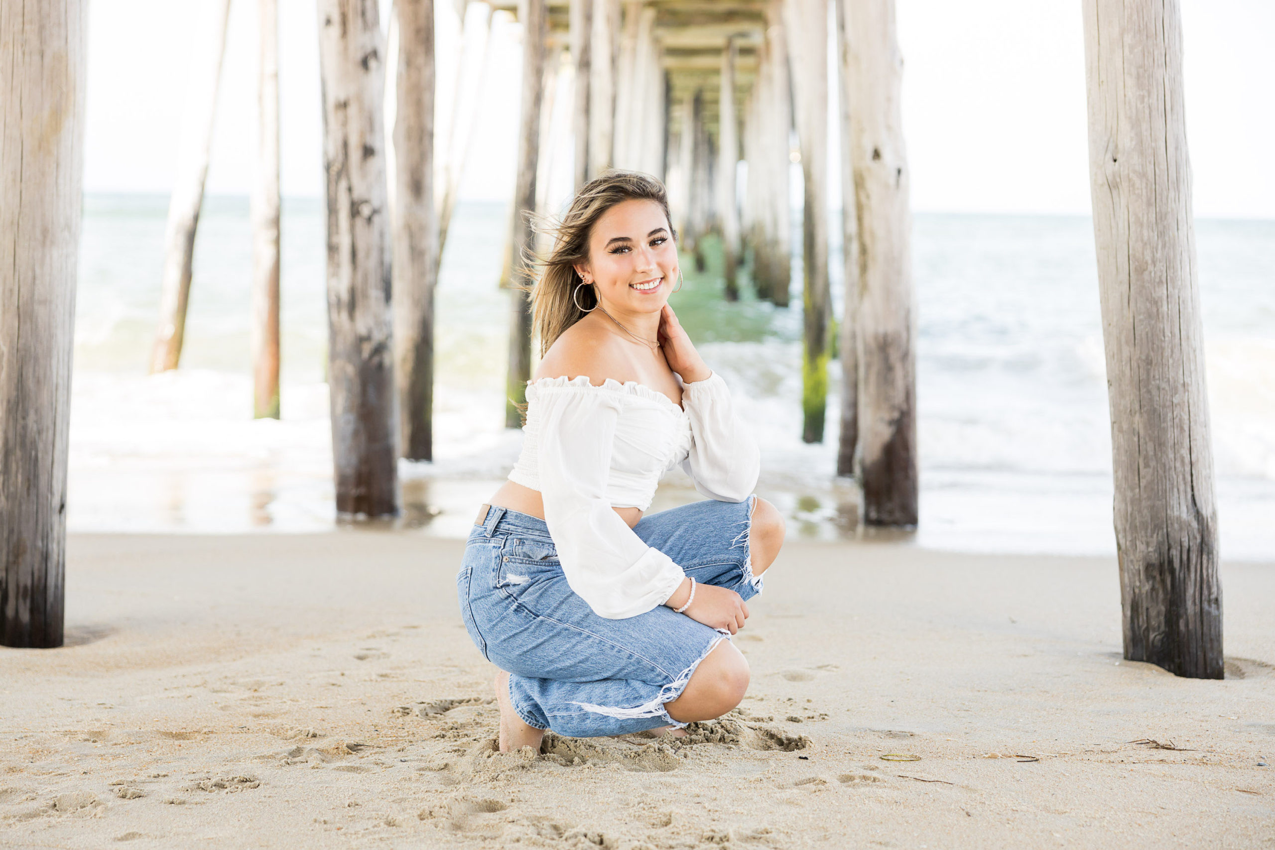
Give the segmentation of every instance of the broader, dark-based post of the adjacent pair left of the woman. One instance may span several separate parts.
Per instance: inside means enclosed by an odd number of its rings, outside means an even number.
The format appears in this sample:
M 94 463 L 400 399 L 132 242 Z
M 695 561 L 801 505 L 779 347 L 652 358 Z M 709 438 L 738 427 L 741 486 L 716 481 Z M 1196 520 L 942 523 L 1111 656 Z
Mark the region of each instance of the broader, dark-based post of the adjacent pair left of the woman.
M 328 201 L 328 387 L 337 512 L 398 512 L 398 410 L 376 0 L 319 0 Z

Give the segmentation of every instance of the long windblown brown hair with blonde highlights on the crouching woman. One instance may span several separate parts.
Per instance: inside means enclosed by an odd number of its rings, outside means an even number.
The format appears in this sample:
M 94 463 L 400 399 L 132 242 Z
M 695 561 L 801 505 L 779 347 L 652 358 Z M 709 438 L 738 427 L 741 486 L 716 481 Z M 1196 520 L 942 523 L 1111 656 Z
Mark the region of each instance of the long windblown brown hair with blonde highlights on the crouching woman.
M 533 268 L 539 269 L 536 279 L 530 285 L 519 287 L 532 296 L 532 322 L 541 338 L 541 357 L 567 328 L 584 319 L 597 305 L 593 287 L 580 287 L 576 293 L 583 280 L 575 265 L 589 260 L 589 237 L 602 214 L 626 200 L 659 204 L 664 219 L 669 222 L 673 242 L 677 242 L 664 184 L 640 171 L 608 169 L 580 187 L 561 219 L 533 218 L 537 232 L 553 237 L 553 249 L 547 256 L 532 257 Z M 576 301 L 584 305 L 584 310 Z

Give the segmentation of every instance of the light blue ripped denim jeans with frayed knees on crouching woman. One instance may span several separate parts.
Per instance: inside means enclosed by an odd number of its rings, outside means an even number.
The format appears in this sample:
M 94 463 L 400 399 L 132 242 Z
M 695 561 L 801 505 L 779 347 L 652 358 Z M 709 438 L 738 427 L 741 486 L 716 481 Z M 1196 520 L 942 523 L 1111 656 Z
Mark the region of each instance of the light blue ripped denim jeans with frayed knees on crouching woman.
M 751 599 L 761 591 L 748 554 L 756 500 L 683 505 L 644 516 L 634 531 L 697 582 Z M 560 735 L 685 726 L 664 703 L 729 637 L 666 605 L 598 617 L 567 585 L 544 520 L 499 506 L 469 531 L 456 590 L 469 637 L 510 673 L 514 710 Z

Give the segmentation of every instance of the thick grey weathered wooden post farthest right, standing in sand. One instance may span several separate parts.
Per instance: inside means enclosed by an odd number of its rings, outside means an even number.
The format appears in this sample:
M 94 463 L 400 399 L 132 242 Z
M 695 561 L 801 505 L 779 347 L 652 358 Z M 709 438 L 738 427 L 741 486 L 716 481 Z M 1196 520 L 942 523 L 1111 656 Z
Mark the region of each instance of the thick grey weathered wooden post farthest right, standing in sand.
M 1125 658 L 1223 678 L 1178 0 L 1085 0 Z

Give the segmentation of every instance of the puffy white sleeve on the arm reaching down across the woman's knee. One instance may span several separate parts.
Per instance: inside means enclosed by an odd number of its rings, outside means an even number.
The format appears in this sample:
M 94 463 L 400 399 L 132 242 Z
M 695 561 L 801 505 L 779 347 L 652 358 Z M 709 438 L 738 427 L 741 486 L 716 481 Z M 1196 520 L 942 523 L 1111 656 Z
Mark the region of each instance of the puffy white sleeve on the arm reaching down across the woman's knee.
M 643 543 L 607 498 L 620 400 L 579 387 L 544 387 L 537 403 L 544 522 L 571 590 L 607 619 L 663 604 L 686 573 Z

